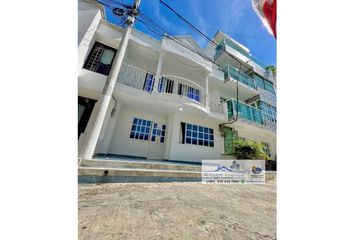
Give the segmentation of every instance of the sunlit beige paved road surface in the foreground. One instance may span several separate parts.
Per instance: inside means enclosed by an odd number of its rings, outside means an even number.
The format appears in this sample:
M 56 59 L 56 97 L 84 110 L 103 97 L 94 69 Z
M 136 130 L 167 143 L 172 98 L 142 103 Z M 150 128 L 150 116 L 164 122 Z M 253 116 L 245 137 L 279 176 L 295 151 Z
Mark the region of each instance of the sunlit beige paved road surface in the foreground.
M 275 239 L 276 182 L 79 185 L 79 239 Z

